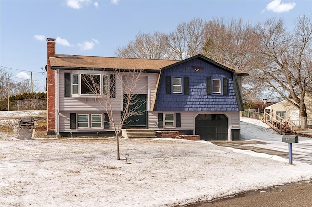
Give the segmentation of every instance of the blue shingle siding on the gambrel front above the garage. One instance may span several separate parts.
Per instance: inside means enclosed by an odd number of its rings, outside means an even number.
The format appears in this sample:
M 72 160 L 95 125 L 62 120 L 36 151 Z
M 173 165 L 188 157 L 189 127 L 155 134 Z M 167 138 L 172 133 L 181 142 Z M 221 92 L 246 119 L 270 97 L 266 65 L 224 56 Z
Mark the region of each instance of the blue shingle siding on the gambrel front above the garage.
M 204 67 L 195 71 L 192 66 Z M 159 82 L 154 110 L 156 111 L 239 111 L 231 72 L 203 60 L 193 59 L 164 69 Z M 189 77 L 189 94 L 166 94 L 166 76 Z M 207 95 L 206 78 L 228 79 L 228 94 Z M 183 80 L 183 78 L 182 78 Z M 221 88 L 223 86 L 221 85 Z

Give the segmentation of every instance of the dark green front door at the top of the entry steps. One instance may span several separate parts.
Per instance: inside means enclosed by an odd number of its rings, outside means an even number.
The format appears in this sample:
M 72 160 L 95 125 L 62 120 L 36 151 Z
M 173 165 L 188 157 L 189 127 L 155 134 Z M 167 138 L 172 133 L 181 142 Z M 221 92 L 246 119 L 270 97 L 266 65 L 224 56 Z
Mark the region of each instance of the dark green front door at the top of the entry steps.
M 147 95 L 137 94 L 134 96 L 133 104 L 130 105 L 130 110 L 136 108 L 135 111 L 140 112 L 139 115 L 129 117 L 125 121 L 125 128 L 146 128 L 147 124 Z M 125 99 L 123 105 L 125 106 Z

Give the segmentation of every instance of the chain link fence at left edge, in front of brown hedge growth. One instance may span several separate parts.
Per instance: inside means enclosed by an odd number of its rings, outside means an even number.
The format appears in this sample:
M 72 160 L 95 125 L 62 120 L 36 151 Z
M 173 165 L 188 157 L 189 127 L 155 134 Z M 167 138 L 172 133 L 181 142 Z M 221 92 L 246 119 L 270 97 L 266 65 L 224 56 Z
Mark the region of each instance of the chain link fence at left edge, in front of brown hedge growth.
M 46 110 L 47 99 L 1 100 L 1 111 Z

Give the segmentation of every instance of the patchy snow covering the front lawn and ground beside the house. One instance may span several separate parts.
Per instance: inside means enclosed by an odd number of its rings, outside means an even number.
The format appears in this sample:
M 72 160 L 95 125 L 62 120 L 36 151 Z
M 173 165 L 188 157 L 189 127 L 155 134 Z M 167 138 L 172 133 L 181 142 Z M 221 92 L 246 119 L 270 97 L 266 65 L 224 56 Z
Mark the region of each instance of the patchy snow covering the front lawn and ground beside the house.
M 262 129 L 267 137 L 275 136 L 265 126 L 252 131 L 252 125 L 242 127 L 243 138 L 263 134 Z M 311 164 L 290 165 L 286 158 L 205 141 L 121 138 L 122 160 L 116 160 L 113 138 L 0 136 L 1 206 L 173 206 L 312 180 Z M 309 149 L 312 141 L 306 142 Z M 125 154 L 130 155 L 127 164 Z

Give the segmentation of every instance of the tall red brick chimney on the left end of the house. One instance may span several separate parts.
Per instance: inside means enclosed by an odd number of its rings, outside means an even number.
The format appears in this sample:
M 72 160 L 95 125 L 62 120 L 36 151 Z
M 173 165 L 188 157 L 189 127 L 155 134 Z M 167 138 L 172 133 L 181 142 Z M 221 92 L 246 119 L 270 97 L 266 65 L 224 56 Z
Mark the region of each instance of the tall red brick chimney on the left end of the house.
M 50 57 L 55 57 L 55 39 L 47 38 L 47 135 L 56 135 L 55 125 L 55 71 Z

